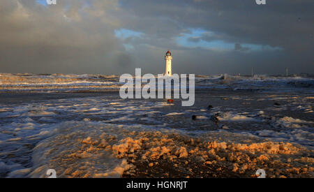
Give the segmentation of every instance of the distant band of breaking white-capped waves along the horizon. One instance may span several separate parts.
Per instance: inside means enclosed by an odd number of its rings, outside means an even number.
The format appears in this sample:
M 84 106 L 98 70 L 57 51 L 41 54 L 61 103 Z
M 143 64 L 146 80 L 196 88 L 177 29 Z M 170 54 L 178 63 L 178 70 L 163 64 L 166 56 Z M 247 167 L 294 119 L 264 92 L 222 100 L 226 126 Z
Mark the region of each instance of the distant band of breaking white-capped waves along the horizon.
M 170 77 L 166 77 L 169 79 Z M 116 75 L 34 75 L 34 74 L 0 74 L 0 91 L 73 91 L 90 89 L 118 89 L 121 84 Z M 296 88 L 313 88 L 313 78 L 306 77 L 272 77 L 255 75 L 254 77 L 234 75 L 198 75 L 195 87 L 216 89 L 271 89 L 287 91 Z M 162 88 L 162 87 L 158 87 Z M 170 87 L 167 87 L 170 88 Z M 177 89 L 174 87 L 174 89 Z M 311 89 L 309 89 L 311 90 Z

